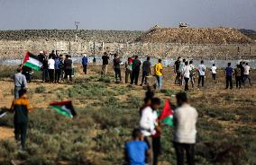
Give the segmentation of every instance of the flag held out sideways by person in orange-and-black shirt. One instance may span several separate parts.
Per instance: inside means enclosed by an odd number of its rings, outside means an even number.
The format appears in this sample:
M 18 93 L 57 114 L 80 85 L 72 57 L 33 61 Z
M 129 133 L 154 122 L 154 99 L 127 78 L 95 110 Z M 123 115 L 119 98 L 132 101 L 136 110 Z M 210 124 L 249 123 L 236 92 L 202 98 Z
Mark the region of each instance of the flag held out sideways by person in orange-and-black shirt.
M 71 100 L 50 103 L 50 108 L 67 117 L 72 118 L 77 115 Z

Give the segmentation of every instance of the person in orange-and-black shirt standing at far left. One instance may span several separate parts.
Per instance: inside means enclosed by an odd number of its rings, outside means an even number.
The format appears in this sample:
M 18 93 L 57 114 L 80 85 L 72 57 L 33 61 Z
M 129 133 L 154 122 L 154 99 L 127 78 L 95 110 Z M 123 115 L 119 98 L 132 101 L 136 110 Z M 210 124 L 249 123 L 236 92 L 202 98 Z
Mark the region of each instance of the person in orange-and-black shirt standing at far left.
M 19 91 L 19 99 L 13 101 L 11 112 L 14 112 L 14 136 L 17 142 L 21 141 L 21 149 L 25 150 L 27 136 L 28 113 L 32 111 L 26 90 Z

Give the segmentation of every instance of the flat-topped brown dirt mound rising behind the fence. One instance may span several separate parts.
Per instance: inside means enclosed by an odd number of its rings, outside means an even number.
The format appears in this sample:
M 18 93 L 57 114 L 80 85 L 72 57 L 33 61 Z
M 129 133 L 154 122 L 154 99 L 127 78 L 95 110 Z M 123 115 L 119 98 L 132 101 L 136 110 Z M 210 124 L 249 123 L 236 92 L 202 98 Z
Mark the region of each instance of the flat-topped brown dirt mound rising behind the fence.
M 148 30 L 136 42 L 231 44 L 252 43 L 253 40 L 241 31 L 231 28 L 160 28 Z

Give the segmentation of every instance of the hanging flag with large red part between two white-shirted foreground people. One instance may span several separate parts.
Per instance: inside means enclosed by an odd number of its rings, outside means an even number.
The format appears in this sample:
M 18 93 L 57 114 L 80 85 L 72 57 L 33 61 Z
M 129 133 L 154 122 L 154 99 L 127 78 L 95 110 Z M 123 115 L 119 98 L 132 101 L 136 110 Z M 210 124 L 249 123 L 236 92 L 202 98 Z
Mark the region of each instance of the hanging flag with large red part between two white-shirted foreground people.
M 169 100 L 165 101 L 159 120 L 162 120 L 162 122 L 168 126 L 173 126 L 173 110 L 169 106 Z

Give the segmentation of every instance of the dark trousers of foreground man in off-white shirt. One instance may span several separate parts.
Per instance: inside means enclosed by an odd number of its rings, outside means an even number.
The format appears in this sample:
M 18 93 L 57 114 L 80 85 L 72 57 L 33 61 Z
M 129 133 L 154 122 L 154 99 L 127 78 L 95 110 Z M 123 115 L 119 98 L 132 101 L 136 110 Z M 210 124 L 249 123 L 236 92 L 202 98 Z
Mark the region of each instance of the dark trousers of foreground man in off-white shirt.
M 184 165 L 185 164 L 185 152 L 187 157 L 187 164 L 188 165 L 195 165 L 195 144 L 194 143 L 173 143 L 176 157 L 177 157 L 177 164 Z

